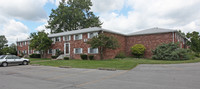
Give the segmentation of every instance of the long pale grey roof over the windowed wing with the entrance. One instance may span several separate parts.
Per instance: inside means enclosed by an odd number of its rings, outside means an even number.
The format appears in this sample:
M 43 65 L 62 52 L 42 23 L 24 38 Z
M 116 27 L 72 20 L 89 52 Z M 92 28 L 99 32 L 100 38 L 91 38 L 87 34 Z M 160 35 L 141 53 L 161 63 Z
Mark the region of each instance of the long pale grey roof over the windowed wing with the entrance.
M 107 29 L 103 29 L 103 28 L 100 28 L 100 27 L 90 27 L 90 28 L 84 28 L 84 29 L 79 29 L 79 30 L 61 32 L 61 33 L 55 33 L 55 34 L 49 34 L 48 37 L 57 37 L 57 36 L 64 36 L 64 35 L 73 35 L 73 34 L 80 34 L 80 33 L 96 32 L 96 31 L 105 31 L 105 32 L 124 35 L 124 34 L 122 34 L 120 32 L 107 30 Z

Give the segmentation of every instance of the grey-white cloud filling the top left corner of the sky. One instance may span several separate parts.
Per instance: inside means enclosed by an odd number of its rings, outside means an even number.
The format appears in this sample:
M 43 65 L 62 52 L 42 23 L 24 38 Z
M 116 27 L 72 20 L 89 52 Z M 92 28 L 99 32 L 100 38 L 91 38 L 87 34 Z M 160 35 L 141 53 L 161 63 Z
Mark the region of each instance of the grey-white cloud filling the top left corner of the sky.
M 43 6 L 48 0 L 0 0 L 1 15 L 22 20 L 40 21 L 47 18 Z

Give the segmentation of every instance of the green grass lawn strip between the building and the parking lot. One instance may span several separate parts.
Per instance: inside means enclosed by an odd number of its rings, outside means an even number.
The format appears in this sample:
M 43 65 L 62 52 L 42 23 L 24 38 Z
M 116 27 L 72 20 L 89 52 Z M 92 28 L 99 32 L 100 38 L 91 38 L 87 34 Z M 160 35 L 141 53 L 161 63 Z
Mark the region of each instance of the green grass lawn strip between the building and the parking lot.
M 30 59 L 32 61 L 38 60 L 50 60 L 50 59 Z M 111 60 L 52 60 L 44 62 L 33 62 L 31 64 L 40 64 L 45 66 L 71 66 L 73 68 L 116 68 L 119 70 L 129 70 L 136 67 L 138 64 L 178 64 L 178 63 L 194 63 L 200 62 L 200 58 L 193 60 L 183 61 L 164 61 L 164 60 L 152 60 L 152 59 L 111 59 Z

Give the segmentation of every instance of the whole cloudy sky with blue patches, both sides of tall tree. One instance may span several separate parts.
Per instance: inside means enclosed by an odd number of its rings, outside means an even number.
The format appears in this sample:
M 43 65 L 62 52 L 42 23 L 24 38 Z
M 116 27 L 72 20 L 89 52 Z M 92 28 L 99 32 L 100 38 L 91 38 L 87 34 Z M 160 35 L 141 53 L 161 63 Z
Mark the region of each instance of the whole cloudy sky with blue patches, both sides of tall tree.
M 10 43 L 45 29 L 61 0 L 0 0 L 0 35 Z M 105 29 L 130 33 L 153 27 L 200 32 L 200 0 L 91 0 Z M 45 29 L 49 32 L 49 29 Z

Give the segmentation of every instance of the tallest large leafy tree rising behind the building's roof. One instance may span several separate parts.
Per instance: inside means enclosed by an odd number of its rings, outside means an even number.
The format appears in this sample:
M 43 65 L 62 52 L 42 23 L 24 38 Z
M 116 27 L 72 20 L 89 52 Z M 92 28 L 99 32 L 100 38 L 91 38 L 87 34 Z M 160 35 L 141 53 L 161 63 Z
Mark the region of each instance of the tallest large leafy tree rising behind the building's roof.
M 52 9 L 46 28 L 51 33 L 71 31 L 88 27 L 101 27 L 99 17 L 90 11 L 90 0 L 62 0 L 57 9 Z

